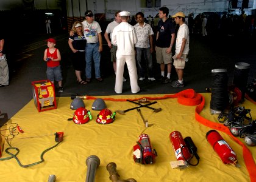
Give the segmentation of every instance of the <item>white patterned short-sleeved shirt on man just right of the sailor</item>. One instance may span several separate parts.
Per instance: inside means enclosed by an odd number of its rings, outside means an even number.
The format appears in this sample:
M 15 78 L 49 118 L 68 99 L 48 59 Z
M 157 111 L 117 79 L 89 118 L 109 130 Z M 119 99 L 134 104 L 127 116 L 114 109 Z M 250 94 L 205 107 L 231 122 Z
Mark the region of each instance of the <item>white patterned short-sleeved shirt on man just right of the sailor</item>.
M 154 32 L 149 24 L 146 24 L 144 22 L 143 27 L 139 23 L 134 25 L 136 35 L 138 38 L 138 42 L 136 43 L 135 47 L 140 47 L 140 48 L 148 48 L 150 47 L 149 44 L 149 35 L 153 35 Z

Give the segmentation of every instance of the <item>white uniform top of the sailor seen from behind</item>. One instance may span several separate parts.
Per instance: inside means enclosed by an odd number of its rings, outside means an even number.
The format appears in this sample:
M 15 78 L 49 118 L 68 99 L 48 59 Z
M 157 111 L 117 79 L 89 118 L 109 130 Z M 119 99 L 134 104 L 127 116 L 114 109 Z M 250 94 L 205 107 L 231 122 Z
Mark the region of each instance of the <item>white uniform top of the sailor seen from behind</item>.
M 117 45 L 116 58 L 118 56 L 135 55 L 134 45 L 137 43 L 135 29 L 127 22 L 121 22 L 112 33 L 112 41 Z

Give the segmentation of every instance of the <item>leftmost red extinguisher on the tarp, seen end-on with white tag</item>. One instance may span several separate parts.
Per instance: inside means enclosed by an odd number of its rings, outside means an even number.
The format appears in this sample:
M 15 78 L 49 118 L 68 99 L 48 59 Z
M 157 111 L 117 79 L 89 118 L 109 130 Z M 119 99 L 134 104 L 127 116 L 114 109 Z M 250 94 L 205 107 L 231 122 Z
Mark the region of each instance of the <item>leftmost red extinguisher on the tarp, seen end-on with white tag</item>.
M 133 160 L 135 163 L 152 164 L 157 157 L 157 151 L 152 149 L 149 135 L 143 133 L 139 136 L 137 145 L 133 146 Z

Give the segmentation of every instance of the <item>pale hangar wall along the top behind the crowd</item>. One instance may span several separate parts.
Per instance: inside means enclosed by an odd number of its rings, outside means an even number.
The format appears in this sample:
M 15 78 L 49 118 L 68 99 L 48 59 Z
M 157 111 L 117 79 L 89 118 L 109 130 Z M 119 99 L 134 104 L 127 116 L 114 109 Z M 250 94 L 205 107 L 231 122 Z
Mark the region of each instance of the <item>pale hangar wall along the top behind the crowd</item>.
M 66 2 L 69 9 L 68 16 L 84 17 L 86 10 L 92 10 L 94 14 L 105 13 L 106 19 L 112 19 L 116 10 L 127 10 L 132 15 L 143 12 L 145 16 L 155 16 L 159 8 L 155 6 L 156 2 L 160 2 L 160 6 L 168 7 L 170 15 L 176 12 L 184 12 L 185 15 L 189 13 L 197 15 L 202 12 L 226 12 L 231 7 L 231 2 L 227 0 L 66 0 Z M 84 2 L 87 2 L 87 5 Z M 148 2 L 151 2 L 152 7 L 147 7 Z M 252 8 L 245 9 L 247 15 L 251 15 L 251 10 L 256 8 L 256 0 L 253 2 Z M 79 3 L 80 10 L 74 9 Z M 73 4 L 73 10 L 71 4 Z M 238 8 L 233 10 L 235 13 L 240 13 Z

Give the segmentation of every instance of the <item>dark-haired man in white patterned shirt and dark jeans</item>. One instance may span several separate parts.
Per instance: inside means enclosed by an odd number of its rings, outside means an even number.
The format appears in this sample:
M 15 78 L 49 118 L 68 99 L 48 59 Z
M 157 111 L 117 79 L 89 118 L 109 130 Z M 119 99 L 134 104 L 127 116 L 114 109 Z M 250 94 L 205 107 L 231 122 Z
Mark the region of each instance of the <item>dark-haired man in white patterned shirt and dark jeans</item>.
M 154 52 L 153 47 L 153 35 L 154 32 L 151 28 L 151 25 L 144 22 L 144 14 L 142 12 L 138 12 L 136 14 L 137 24 L 134 25 L 136 35 L 138 38 L 138 42 L 135 44 L 135 49 L 137 52 L 137 62 L 138 69 L 140 74 L 140 81 L 144 81 L 146 69 L 141 64 L 142 54 L 144 55 L 144 59 L 146 61 L 146 66 L 148 67 L 148 79 L 150 81 L 155 81 L 153 76 L 153 61 L 152 61 L 152 52 Z

